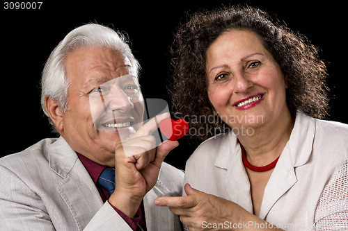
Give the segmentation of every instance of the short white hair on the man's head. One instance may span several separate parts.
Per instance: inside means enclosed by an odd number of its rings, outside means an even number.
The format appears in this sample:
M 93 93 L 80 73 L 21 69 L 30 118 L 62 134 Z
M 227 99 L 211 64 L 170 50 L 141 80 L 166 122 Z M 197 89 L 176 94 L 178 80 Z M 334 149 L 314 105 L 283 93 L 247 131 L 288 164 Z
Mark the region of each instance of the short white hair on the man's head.
M 68 110 L 68 87 L 65 60 L 74 49 L 88 47 L 106 47 L 124 53 L 131 62 L 134 74 L 138 76 L 140 65 L 134 58 L 125 36 L 113 29 L 99 24 L 86 24 L 70 31 L 56 46 L 47 59 L 41 77 L 41 107 L 49 118 L 45 109 L 45 97 L 59 101 L 61 110 Z M 49 118 L 49 122 L 52 120 Z M 52 126 L 54 124 L 52 123 Z

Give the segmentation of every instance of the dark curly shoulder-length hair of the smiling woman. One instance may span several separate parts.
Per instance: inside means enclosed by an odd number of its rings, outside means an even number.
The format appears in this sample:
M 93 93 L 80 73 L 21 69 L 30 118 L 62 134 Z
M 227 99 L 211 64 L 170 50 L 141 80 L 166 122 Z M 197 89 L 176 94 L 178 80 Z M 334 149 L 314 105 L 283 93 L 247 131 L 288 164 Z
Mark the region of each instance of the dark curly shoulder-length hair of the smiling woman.
M 232 29 L 256 33 L 280 65 L 288 86 L 287 105 L 292 117 L 296 110 L 318 119 L 326 117 L 329 110 L 324 82 L 326 66 L 319 60 L 315 46 L 303 35 L 274 22 L 266 12 L 248 6 L 197 12 L 178 29 L 171 47 L 173 78 L 169 89 L 176 117 L 214 115 L 207 95 L 205 53 L 219 35 Z M 190 123 L 191 128 L 201 131 L 195 134 L 196 138 L 207 139 L 212 134 L 209 131 L 228 127 L 214 117 L 214 123 L 200 119 Z

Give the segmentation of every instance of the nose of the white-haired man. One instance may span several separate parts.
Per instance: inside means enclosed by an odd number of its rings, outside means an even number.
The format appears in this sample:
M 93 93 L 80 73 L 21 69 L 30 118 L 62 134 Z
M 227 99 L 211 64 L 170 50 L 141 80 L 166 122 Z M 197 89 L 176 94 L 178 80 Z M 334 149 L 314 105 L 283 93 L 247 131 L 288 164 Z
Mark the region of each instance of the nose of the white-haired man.
M 112 111 L 128 112 L 134 108 L 131 97 L 129 97 L 120 87 L 114 87 L 109 94 L 109 109 Z

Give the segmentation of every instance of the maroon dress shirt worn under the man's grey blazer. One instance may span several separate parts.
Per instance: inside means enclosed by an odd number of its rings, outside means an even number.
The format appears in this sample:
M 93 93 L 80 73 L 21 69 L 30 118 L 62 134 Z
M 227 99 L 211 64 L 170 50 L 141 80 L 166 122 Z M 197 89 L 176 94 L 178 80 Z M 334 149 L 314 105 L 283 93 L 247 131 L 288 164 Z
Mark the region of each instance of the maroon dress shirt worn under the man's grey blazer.
M 90 177 L 92 178 L 93 182 L 95 183 L 95 187 L 97 187 L 100 196 L 102 197 L 103 202 L 105 203 L 106 200 L 109 197 L 108 191 L 100 185 L 97 180 L 106 168 L 106 166 L 103 166 L 101 164 L 97 164 L 96 162 L 93 162 L 92 160 L 89 160 L 84 155 L 81 155 L 80 153 L 77 153 L 79 156 L 79 159 L 81 160 L 82 164 L 84 164 L 84 167 L 88 171 Z M 109 201 L 108 201 L 109 202 Z M 111 205 L 111 204 L 110 204 Z M 141 228 L 143 230 L 146 230 L 146 224 L 145 224 L 145 216 L 144 214 L 144 208 L 143 203 L 141 203 L 141 206 L 139 207 L 138 211 L 136 212 L 136 215 L 133 218 L 128 217 L 126 214 L 122 213 L 120 210 L 118 210 L 116 207 L 111 205 L 113 209 L 122 217 L 123 220 L 132 228 L 134 231 L 139 231 Z M 141 228 L 139 228 L 139 226 Z

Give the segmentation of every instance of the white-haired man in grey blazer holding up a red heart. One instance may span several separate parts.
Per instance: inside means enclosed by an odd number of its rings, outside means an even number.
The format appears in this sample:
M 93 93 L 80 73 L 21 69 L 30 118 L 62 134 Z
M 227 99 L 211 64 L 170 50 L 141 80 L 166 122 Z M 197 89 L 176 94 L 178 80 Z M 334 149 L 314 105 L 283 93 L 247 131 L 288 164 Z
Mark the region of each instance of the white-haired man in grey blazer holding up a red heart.
M 155 147 L 151 135 L 169 114 L 142 125 L 138 70 L 122 36 L 104 26 L 80 26 L 56 46 L 41 103 L 61 136 L 0 159 L 0 230 L 182 229 L 154 204 L 181 196 L 184 173 L 163 162 L 178 143 Z

